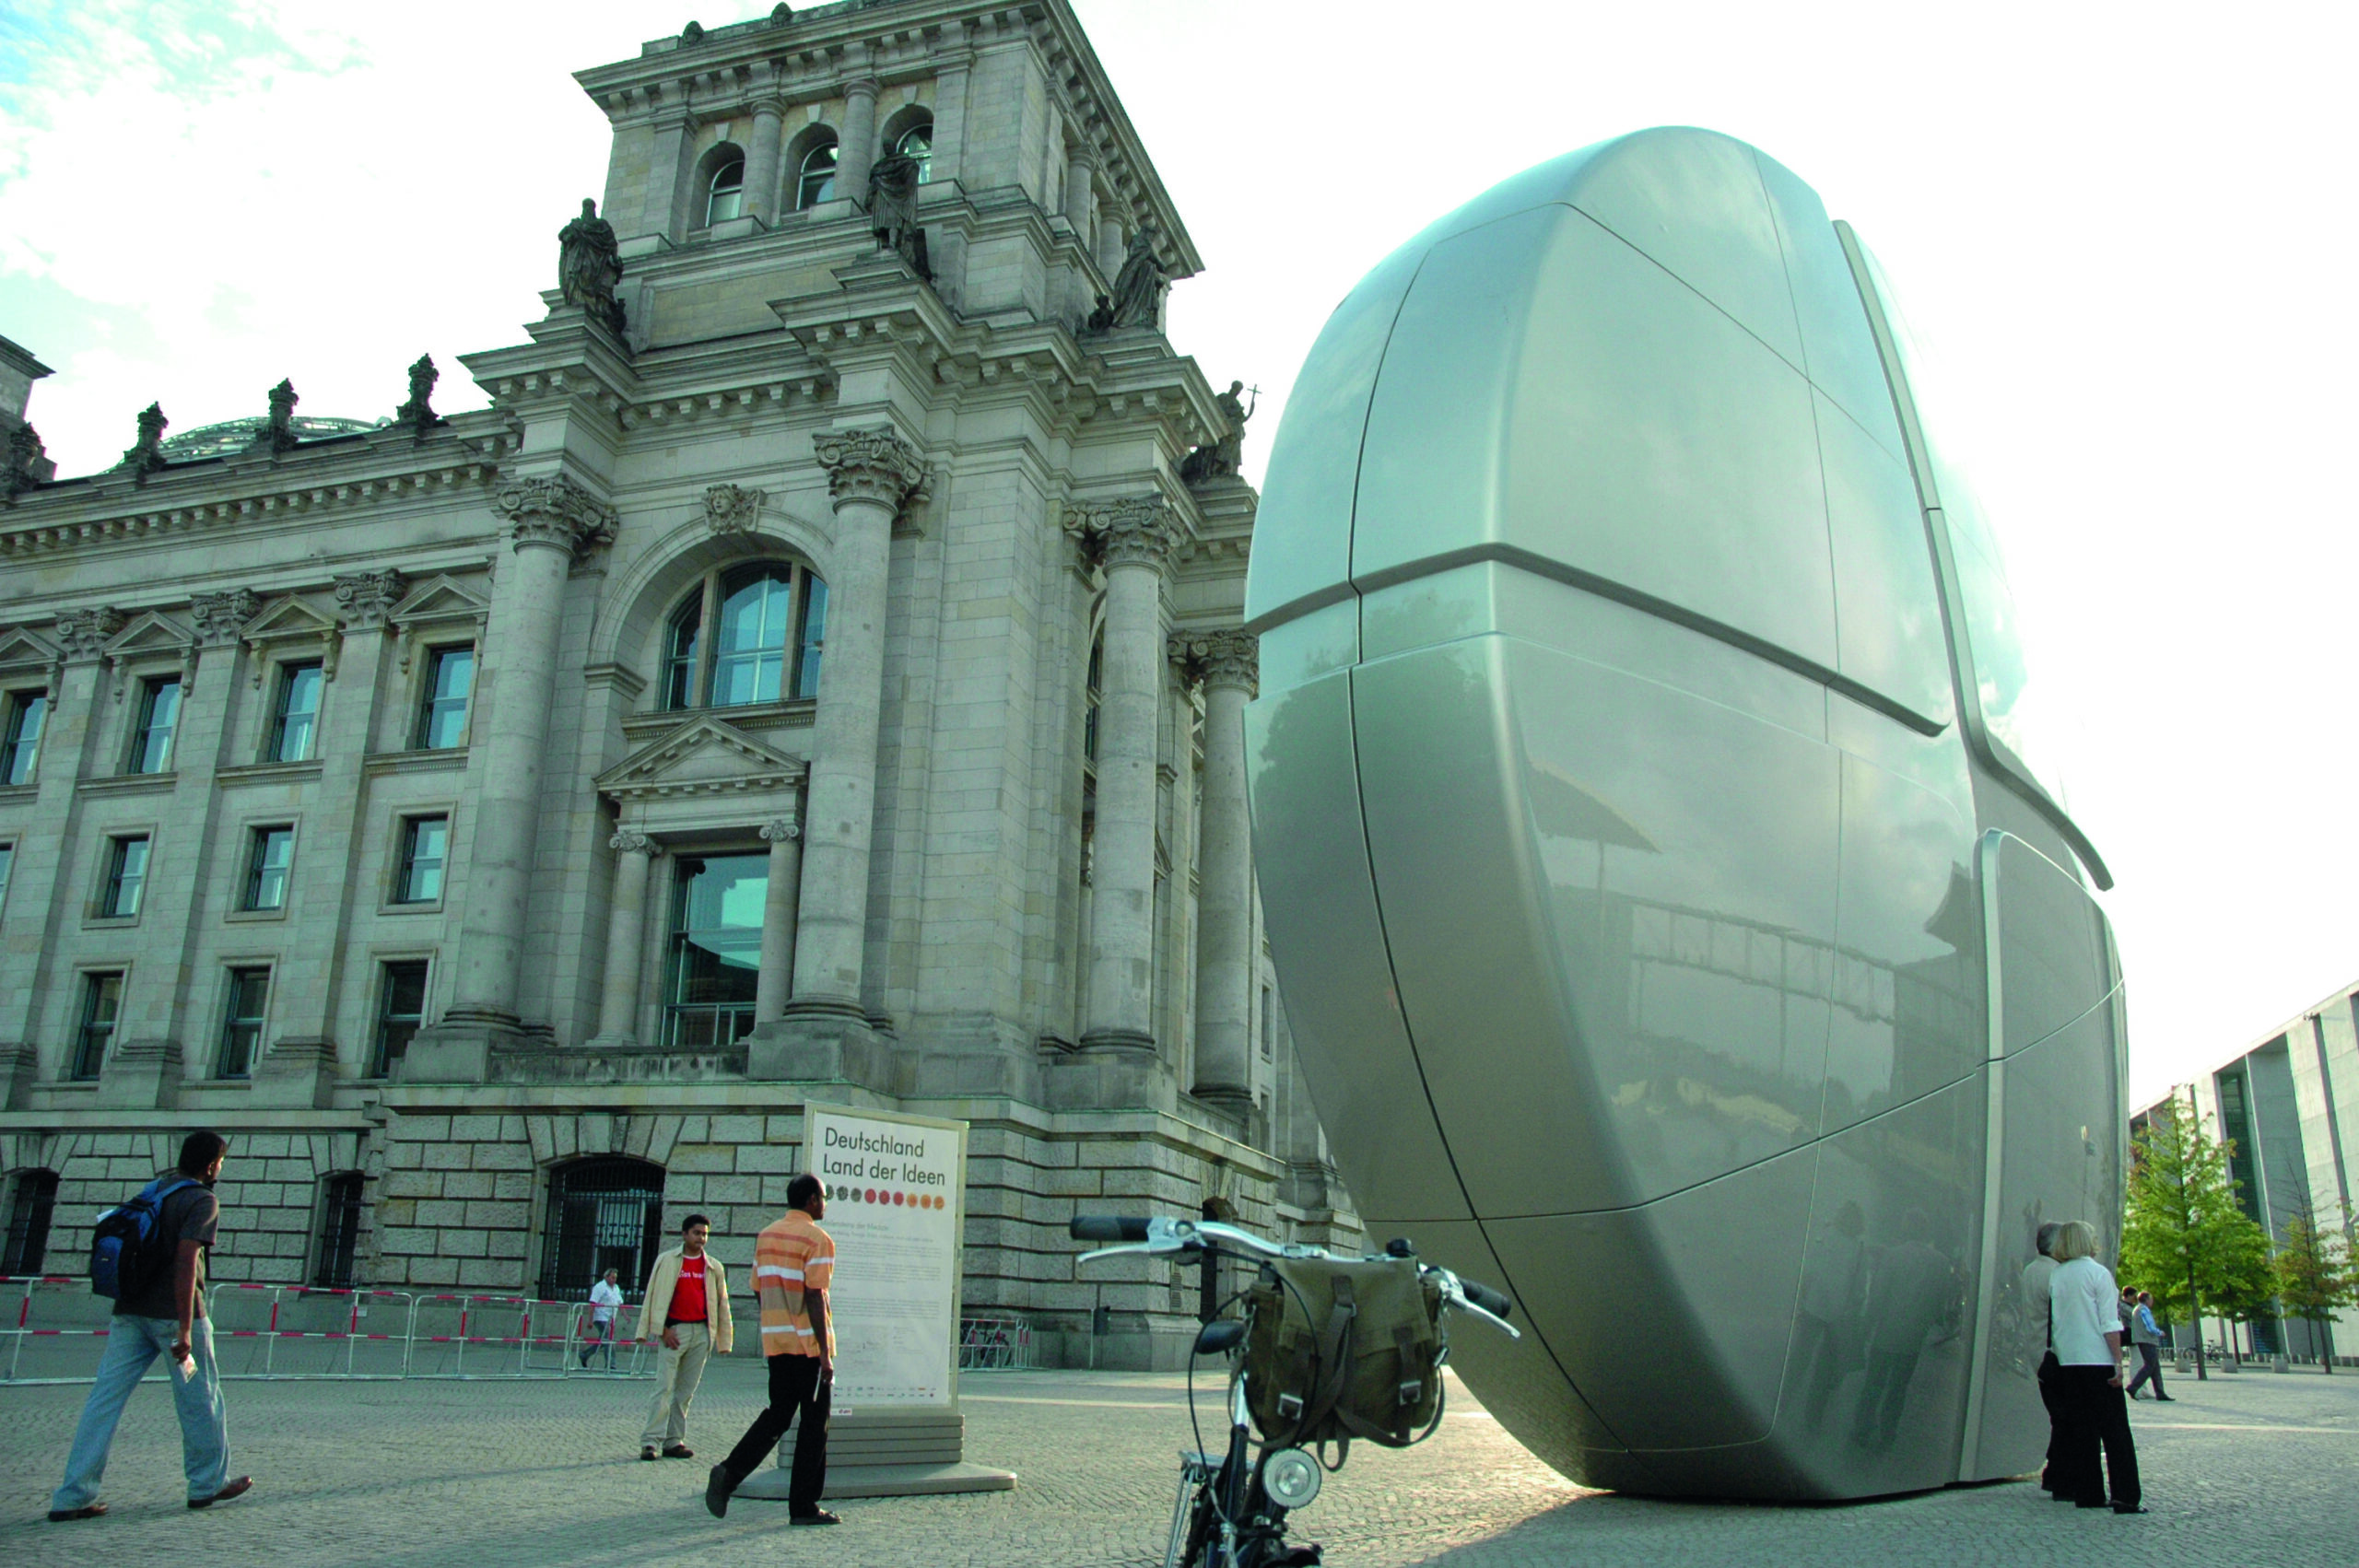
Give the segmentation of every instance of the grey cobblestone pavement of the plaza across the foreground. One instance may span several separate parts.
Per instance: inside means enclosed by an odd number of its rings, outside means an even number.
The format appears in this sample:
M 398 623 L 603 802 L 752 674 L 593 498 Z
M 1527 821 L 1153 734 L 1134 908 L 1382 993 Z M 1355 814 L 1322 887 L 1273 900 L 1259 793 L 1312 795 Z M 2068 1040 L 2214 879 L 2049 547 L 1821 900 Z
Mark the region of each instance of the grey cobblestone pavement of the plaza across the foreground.
M 2177 1379 L 2168 1410 L 2135 1408 L 2151 1514 L 2116 1518 L 1986 1485 L 1852 1507 L 1703 1507 L 1583 1493 L 1470 1398 L 1427 1445 L 1359 1448 L 1297 1516 L 1297 1540 L 1364 1568 L 1663 1568 L 1762 1563 L 2359 1563 L 2359 1377 L 2246 1372 Z M 828 1563 L 830 1568 L 1130 1568 L 1161 1561 L 1189 1445 L 1177 1377 L 967 1377 L 967 1457 L 1019 1471 L 1014 1493 L 842 1502 L 840 1530 L 788 1530 L 786 1507 L 701 1507 L 703 1462 L 639 1464 L 649 1384 L 234 1382 L 234 1471 L 252 1495 L 182 1507 L 170 1394 L 144 1386 L 109 1467 L 113 1514 L 42 1518 L 80 1386 L 0 1389 L 0 1561 L 377 1563 Z M 715 1363 L 689 1441 L 717 1457 L 760 1403 L 760 1368 Z M 1203 1401 L 1217 1419 L 1217 1401 Z M 1210 1436 L 1210 1434 L 1208 1434 Z

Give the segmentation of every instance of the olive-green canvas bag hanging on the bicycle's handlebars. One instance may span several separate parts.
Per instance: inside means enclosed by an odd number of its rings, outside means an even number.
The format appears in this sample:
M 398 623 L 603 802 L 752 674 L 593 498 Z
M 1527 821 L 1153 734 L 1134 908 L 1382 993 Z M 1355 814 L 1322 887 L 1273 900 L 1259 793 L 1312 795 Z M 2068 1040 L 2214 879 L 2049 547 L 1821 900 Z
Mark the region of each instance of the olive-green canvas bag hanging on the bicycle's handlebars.
M 1246 1401 L 1272 1448 L 1408 1448 L 1441 1424 L 1441 1285 L 1413 1257 L 1288 1257 L 1248 1297 Z

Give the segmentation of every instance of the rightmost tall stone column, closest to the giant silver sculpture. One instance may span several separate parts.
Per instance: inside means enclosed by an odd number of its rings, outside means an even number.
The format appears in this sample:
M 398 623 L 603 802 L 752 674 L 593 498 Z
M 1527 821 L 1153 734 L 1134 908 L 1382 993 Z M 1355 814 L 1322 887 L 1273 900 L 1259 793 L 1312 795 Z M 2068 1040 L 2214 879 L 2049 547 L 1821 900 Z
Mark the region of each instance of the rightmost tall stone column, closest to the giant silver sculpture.
M 1253 832 L 1246 821 L 1246 700 L 1260 641 L 1175 637 L 1203 679 L 1203 849 L 1196 884 L 1196 1094 L 1253 1103 Z

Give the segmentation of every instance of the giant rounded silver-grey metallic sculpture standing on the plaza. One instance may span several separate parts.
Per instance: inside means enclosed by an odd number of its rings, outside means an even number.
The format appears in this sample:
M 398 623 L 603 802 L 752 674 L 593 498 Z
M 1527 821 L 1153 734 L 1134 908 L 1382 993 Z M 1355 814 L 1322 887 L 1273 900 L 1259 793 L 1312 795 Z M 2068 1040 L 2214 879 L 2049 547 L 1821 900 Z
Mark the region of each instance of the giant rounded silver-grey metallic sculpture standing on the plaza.
M 2031 1228 L 2118 1214 L 2104 877 L 1873 278 L 1741 141 L 1623 137 L 1380 264 L 1272 453 L 1305 1075 L 1371 1233 L 1514 1292 L 1460 1370 L 1590 1483 L 2036 1464 Z

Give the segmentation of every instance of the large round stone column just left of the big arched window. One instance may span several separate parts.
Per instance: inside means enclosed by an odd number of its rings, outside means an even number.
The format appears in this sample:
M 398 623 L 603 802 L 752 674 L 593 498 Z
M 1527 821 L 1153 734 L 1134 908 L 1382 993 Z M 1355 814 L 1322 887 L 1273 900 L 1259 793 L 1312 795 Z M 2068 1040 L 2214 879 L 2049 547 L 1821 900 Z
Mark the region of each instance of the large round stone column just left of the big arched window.
M 446 1021 L 514 1028 L 566 573 L 580 549 L 611 538 L 616 519 L 564 474 L 519 479 L 493 505 L 507 519 L 514 559 L 500 571 L 486 639 L 491 703 L 474 731 L 486 747 L 484 790 L 474 809 L 474 854 L 460 872 L 467 920 Z

